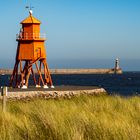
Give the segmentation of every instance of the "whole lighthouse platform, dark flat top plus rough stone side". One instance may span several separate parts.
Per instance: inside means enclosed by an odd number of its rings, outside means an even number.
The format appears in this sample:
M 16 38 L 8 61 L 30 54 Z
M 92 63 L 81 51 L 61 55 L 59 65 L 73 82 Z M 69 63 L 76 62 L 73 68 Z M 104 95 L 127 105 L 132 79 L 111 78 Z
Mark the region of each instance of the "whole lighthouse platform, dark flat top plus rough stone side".
M 77 95 L 101 95 L 106 94 L 104 88 L 92 86 L 56 86 L 54 89 L 43 89 L 30 87 L 28 89 L 8 88 L 7 98 L 26 99 L 26 98 L 60 98 Z M 2 98 L 2 96 L 0 97 Z

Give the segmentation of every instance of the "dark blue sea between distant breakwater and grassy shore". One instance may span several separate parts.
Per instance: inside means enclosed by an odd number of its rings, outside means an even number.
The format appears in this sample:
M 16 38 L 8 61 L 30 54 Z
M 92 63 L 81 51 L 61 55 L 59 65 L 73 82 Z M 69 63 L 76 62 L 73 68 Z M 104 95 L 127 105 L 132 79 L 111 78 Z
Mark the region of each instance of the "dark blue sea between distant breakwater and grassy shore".
M 0 86 L 8 86 L 10 75 L 0 75 Z M 109 94 L 140 95 L 140 72 L 123 74 L 53 74 L 53 84 L 103 87 Z M 30 77 L 30 85 L 33 79 Z

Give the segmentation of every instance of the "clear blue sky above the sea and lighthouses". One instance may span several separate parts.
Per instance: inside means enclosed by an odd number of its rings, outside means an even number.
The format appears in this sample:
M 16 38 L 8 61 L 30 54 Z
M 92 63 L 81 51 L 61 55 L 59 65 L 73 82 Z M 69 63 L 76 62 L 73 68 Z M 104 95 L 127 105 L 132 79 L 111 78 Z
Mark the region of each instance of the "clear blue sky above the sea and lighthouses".
M 47 34 L 51 68 L 107 68 L 119 57 L 124 70 L 140 70 L 139 0 L 6 0 L 0 4 L 0 68 L 14 65 L 26 5 Z

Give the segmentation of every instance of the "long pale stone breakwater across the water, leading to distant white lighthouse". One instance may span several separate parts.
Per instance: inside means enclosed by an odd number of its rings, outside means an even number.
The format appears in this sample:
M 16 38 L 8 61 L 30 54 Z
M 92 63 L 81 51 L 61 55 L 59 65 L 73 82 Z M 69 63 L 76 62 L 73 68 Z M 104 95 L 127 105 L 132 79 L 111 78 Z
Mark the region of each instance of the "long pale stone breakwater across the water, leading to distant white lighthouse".
M 50 72 L 51 74 L 122 74 L 122 69 L 50 69 Z M 12 74 L 12 70 L 0 69 L 0 74 Z

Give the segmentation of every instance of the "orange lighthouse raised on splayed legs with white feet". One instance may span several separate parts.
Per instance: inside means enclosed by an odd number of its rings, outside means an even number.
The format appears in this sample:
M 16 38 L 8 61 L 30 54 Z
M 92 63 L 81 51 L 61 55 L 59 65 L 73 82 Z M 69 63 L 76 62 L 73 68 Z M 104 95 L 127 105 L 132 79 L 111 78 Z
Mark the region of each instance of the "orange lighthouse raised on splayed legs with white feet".
M 32 15 L 32 10 L 30 10 L 29 16 L 21 24 L 22 28 L 16 38 L 18 42 L 16 62 L 10 85 L 27 88 L 30 75 L 32 75 L 36 87 L 42 84 L 44 88 L 48 86 L 54 88 L 46 61 L 46 37 L 45 34 L 40 33 L 41 22 Z M 33 65 L 36 68 L 35 72 Z

